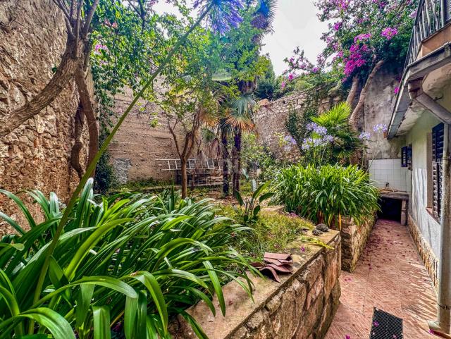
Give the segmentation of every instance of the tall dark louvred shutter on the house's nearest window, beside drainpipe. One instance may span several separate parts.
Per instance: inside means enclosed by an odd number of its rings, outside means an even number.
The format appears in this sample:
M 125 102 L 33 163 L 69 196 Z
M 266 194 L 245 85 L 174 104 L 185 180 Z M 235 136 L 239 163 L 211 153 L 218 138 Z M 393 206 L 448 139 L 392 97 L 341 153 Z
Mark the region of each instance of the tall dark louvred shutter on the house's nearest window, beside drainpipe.
M 432 182 L 433 182 L 433 215 L 440 221 L 442 203 L 443 176 L 443 136 L 445 125 L 440 123 L 432 129 Z

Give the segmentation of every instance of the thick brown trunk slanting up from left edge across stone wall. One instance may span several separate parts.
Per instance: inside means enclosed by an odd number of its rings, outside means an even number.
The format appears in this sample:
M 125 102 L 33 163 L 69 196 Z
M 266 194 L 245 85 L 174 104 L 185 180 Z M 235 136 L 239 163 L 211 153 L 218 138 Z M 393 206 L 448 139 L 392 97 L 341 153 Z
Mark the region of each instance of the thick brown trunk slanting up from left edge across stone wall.
M 23 106 L 0 118 L 0 137 L 8 135 L 25 121 L 39 114 L 58 97 L 68 82 L 73 80 L 75 70 L 80 63 L 80 58 L 73 57 L 75 48 L 74 42 L 68 41 L 68 47 L 66 47 L 58 70 L 44 89 Z

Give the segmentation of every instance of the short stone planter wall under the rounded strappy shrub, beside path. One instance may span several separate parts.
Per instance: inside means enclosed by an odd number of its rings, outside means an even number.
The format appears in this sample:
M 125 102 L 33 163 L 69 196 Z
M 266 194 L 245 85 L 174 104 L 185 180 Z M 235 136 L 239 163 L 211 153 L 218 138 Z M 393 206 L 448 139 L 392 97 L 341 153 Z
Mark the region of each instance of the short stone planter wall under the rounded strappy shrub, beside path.
M 352 272 L 357 266 L 360 256 L 364 252 L 373 230 L 376 218 L 368 218 L 362 225 L 357 226 L 353 218 L 344 217 L 341 221 L 341 268 Z

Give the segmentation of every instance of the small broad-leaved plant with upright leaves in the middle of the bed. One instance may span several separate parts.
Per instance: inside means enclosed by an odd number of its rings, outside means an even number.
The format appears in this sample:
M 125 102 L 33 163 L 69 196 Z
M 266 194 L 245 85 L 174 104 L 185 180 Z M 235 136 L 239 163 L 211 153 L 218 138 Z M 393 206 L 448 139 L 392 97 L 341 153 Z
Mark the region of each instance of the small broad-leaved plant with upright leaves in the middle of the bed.
M 252 193 L 243 198 L 240 192 L 236 192 L 235 197 L 238 204 L 240 204 L 240 209 L 237 209 L 237 211 L 240 211 L 243 223 L 248 225 L 257 221 L 259 218 L 259 211 L 261 210 L 261 203 L 271 198 L 274 194 L 273 192 L 267 192 L 266 190 L 271 184 L 271 181 L 266 181 L 266 183 L 261 183 L 257 186 L 257 181 L 249 178 L 249 175 L 244 169 L 242 170 L 242 175 L 246 181 L 250 183 Z

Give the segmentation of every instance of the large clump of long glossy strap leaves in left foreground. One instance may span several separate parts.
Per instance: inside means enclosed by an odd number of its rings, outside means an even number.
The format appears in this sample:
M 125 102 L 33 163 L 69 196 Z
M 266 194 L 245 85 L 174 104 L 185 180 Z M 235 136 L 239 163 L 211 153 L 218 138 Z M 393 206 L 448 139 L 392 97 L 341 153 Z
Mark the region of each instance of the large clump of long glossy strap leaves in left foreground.
M 130 339 L 170 338 L 168 319 L 175 314 L 206 338 L 187 307 L 204 300 L 215 313 L 210 300 L 216 295 L 225 314 L 221 285 L 230 280 L 251 295 L 245 270 L 254 270 L 230 247 L 231 234 L 247 228 L 216 215 L 209 200 L 192 202 L 173 191 L 96 197 L 90 179 L 70 211 L 53 193 L 47 199 L 30 192 L 44 215 L 38 222 L 18 197 L 0 192 L 16 202 L 29 228 L 0 213 L 18 233 L 0 242 L 1 339 L 49 333 L 69 339 L 75 332 L 80 339 L 110 338 L 111 328 Z M 63 213 L 68 222 L 33 300 Z

